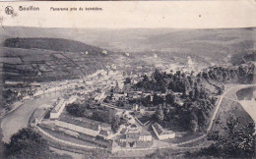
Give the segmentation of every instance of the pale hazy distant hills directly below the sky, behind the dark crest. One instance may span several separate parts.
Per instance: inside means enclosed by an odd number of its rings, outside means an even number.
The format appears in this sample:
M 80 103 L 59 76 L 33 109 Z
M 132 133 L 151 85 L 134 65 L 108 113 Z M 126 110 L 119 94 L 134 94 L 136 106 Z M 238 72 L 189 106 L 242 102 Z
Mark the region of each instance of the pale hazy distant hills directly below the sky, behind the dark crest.
M 209 63 L 239 63 L 255 50 L 255 28 L 36 28 L 5 27 L 9 37 L 52 37 L 81 41 L 121 52 L 166 52 L 171 56 L 197 55 Z M 193 59 L 192 59 L 193 60 Z

